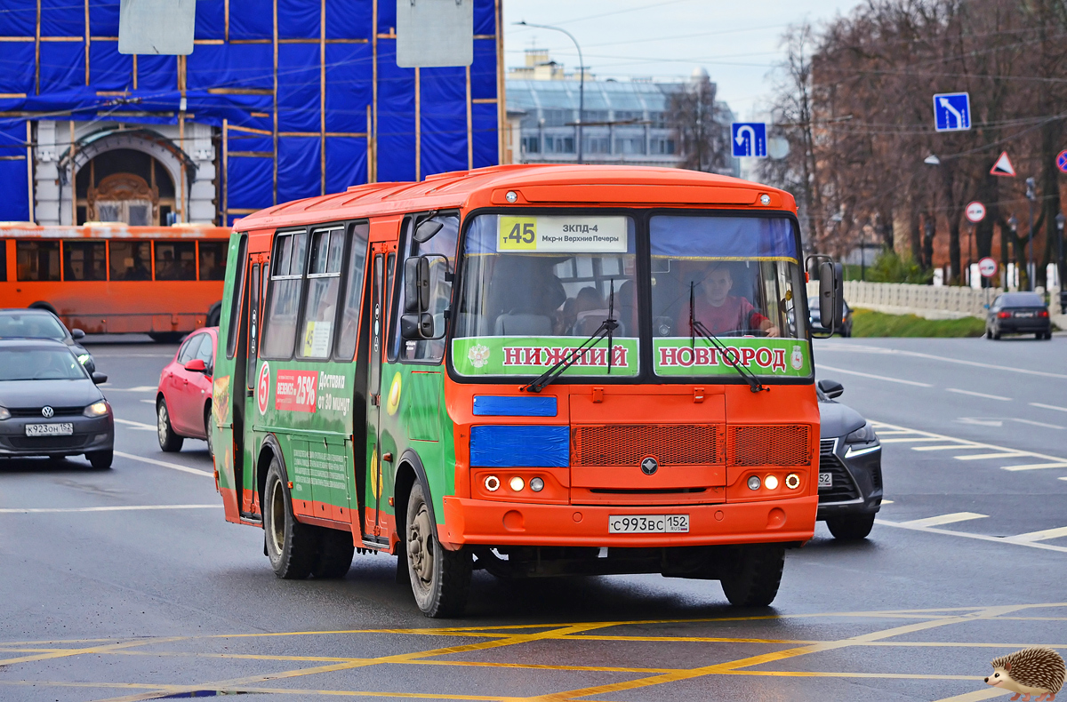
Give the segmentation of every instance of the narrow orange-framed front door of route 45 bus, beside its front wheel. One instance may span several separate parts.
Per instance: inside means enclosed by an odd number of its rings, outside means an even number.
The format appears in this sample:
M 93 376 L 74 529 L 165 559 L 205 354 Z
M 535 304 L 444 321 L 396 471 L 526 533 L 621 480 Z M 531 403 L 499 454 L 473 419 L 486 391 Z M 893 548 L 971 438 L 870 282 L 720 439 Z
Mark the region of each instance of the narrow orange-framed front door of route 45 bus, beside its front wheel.
M 370 294 L 368 308 L 364 314 L 370 319 L 370 345 L 367 361 L 367 507 L 364 510 L 363 532 L 368 542 L 388 545 L 388 533 L 382 524 L 382 502 L 388 498 L 387 476 L 392 465 L 383 465 L 396 460 L 386 447 L 381 447 L 381 415 L 385 399 L 382 398 L 382 364 L 385 362 L 387 339 L 388 291 L 392 267 L 396 260 L 396 244 L 375 242 L 370 244 Z

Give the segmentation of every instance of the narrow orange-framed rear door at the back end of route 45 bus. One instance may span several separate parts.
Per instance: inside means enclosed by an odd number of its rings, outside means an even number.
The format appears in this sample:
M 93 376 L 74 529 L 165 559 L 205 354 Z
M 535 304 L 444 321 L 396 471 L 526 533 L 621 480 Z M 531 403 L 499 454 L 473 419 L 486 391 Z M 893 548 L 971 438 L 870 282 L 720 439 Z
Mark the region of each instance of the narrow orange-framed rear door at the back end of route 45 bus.
M 257 397 L 259 396 L 259 392 L 257 392 L 259 379 L 256 376 L 256 370 L 259 360 L 259 316 L 262 312 L 262 282 L 267 280 L 267 254 L 249 254 L 249 306 L 245 325 L 241 329 L 245 349 L 248 350 L 244 356 L 243 369 L 244 392 L 234 394 L 235 398 L 241 398 L 240 401 L 235 400 L 235 404 L 241 406 L 241 427 L 240 431 L 238 431 L 237 422 L 234 422 L 234 473 L 240 491 L 238 500 L 241 508 L 241 516 L 244 517 L 255 516 L 259 512 L 255 495 L 255 456 L 252 454 L 255 451 L 255 446 L 248 446 L 245 437 L 255 422 L 255 417 L 259 416 L 256 406 Z M 266 388 L 260 388 L 260 392 L 262 389 L 267 390 L 265 397 L 269 399 L 270 379 L 267 379 L 267 386 Z M 235 418 L 236 416 L 237 413 L 235 412 Z

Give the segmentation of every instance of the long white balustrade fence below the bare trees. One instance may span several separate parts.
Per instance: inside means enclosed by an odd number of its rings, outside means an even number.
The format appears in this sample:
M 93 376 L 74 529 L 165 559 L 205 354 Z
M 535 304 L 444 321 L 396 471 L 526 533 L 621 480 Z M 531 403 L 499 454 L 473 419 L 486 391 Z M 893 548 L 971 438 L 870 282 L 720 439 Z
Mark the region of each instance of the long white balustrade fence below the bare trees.
M 818 283 L 809 283 L 808 292 L 809 297 L 817 294 Z M 927 319 L 985 317 L 986 303 L 992 302 L 1000 292 L 1000 288 L 845 282 L 845 301 L 853 307 L 894 315 L 918 315 Z M 1038 292 L 1044 290 L 1039 288 Z M 1052 288 L 1051 292 L 1049 314 L 1063 315 L 1064 312 L 1060 309 L 1060 289 Z

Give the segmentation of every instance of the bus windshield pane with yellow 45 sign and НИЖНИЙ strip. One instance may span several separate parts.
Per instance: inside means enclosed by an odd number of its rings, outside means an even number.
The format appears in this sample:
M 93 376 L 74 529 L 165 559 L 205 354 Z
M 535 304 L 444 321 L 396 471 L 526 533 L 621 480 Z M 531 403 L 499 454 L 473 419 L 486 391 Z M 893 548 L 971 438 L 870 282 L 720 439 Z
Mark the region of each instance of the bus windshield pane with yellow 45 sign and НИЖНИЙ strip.
M 568 376 L 636 376 L 634 220 L 625 216 L 482 214 L 472 222 L 452 341 L 465 376 L 540 374 L 594 334 Z

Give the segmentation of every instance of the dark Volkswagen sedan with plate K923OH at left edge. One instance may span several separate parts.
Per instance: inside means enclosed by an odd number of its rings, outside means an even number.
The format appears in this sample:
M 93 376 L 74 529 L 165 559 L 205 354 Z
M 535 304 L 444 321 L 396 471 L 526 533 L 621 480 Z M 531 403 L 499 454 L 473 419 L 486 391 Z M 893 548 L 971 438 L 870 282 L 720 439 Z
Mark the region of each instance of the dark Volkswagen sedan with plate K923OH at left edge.
M 107 380 L 61 341 L 0 340 L 0 456 L 84 454 L 110 468 L 114 416 L 97 387 Z

